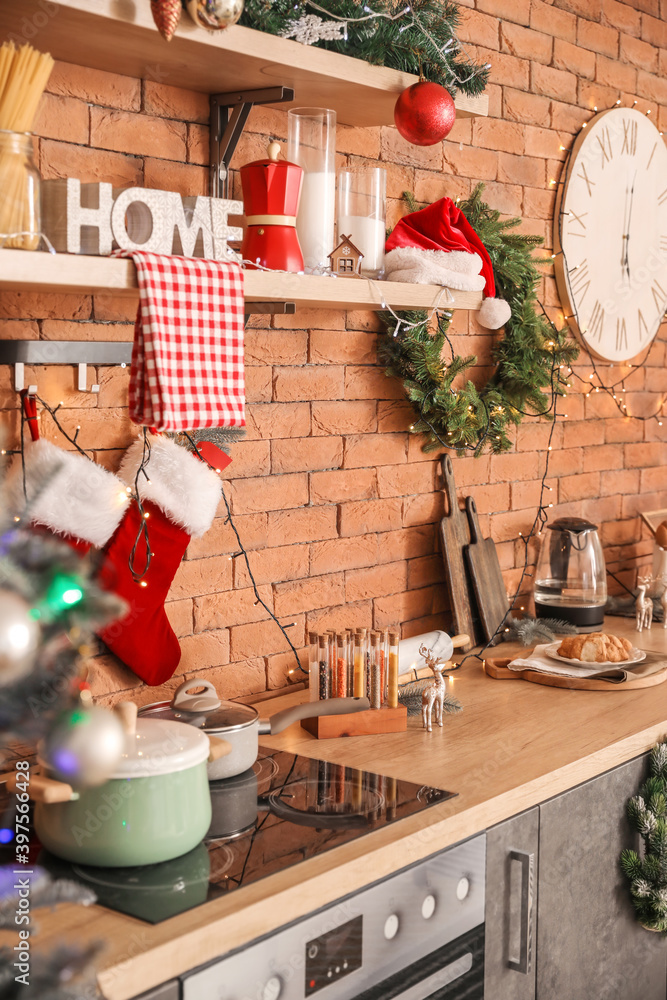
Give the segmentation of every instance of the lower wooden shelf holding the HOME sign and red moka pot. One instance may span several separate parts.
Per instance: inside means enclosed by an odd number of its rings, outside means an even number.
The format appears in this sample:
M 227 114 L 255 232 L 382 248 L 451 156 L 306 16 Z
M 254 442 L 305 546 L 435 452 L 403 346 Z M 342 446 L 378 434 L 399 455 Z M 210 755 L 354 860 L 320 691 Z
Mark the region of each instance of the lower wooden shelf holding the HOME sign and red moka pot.
M 78 295 L 137 295 L 130 260 L 0 250 L 0 291 L 70 292 Z M 245 272 L 247 302 L 294 302 L 297 309 L 479 309 L 481 292 L 447 292 L 439 285 L 370 282 L 311 274 Z

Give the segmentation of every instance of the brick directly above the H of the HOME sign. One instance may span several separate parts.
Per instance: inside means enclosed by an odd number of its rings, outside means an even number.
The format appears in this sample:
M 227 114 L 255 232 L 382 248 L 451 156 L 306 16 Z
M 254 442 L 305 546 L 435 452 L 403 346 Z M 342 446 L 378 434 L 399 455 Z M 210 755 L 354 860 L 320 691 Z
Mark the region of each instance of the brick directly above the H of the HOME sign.
M 107 153 L 68 142 L 40 140 L 40 173 L 43 180 L 77 177 L 82 183 L 106 181 L 114 187 L 140 187 L 141 160 L 120 153 Z

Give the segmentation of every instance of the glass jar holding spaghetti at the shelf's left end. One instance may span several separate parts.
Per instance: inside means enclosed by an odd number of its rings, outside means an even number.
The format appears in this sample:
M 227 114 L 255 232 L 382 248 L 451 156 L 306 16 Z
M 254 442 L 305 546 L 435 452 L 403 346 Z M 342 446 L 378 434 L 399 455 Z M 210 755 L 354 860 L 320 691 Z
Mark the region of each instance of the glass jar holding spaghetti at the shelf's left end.
M 37 250 L 42 228 L 39 188 L 32 134 L 0 129 L 0 247 Z

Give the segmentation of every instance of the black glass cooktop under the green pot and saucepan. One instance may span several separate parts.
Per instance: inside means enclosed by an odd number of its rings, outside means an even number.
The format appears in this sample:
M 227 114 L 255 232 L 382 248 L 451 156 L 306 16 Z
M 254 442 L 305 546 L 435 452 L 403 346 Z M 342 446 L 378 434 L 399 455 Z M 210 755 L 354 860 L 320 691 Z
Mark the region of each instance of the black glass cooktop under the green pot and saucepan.
M 174 861 L 93 868 L 39 845 L 31 861 L 92 889 L 102 906 L 159 923 L 455 794 L 261 747 L 253 768 L 210 787 L 209 832 Z M 3 853 L 0 863 L 9 862 Z

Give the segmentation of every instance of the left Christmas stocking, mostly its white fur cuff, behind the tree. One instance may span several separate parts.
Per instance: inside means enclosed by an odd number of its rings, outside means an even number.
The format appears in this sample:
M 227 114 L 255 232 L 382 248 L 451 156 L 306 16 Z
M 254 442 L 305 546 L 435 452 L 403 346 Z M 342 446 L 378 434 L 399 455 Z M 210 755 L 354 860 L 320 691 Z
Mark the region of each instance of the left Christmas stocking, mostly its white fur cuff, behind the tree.
M 32 524 L 48 528 L 81 555 L 103 548 L 129 503 L 125 484 L 80 452 L 44 439 L 26 444 L 24 462 L 26 493 L 17 455 L 5 481 L 6 506 L 17 516 L 25 511 Z

